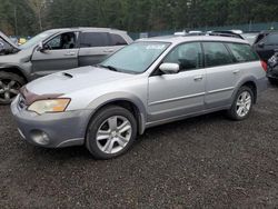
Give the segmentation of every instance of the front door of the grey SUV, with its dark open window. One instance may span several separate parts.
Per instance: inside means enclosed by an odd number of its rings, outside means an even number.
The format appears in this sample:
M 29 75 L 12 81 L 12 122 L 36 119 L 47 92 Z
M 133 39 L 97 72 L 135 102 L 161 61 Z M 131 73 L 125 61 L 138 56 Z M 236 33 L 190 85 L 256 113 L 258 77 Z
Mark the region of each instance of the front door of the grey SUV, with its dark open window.
M 43 43 L 43 50 L 34 50 L 32 56 L 32 74 L 41 77 L 49 73 L 78 67 L 79 48 L 76 33 L 58 34 Z

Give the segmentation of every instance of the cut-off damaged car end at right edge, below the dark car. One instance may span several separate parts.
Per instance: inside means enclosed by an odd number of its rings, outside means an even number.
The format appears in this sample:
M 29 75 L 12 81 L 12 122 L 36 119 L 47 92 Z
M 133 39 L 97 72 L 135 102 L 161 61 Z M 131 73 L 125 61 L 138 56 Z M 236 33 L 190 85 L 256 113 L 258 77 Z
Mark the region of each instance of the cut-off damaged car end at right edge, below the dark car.
M 267 78 L 270 83 L 278 83 L 278 50 L 275 51 L 275 54 L 268 60 Z

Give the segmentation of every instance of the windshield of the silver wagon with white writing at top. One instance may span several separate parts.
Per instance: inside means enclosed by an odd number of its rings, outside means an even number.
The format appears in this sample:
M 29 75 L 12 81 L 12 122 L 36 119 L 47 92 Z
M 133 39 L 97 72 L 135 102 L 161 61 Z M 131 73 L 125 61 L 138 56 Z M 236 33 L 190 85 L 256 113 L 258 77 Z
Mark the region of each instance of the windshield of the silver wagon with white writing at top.
M 116 52 L 100 66 L 127 73 L 142 73 L 169 46 L 168 42 L 136 42 Z

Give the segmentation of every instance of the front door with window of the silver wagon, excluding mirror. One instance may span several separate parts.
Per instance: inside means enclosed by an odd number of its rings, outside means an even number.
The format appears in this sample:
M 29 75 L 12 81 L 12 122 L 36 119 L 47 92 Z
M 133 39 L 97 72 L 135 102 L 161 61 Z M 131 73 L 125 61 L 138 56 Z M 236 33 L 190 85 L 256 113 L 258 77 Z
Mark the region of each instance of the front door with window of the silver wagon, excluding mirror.
M 149 78 L 148 122 L 202 111 L 206 71 L 202 69 L 200 43 L 178 46 L 163 62 L 178 63 L 180 71 Z

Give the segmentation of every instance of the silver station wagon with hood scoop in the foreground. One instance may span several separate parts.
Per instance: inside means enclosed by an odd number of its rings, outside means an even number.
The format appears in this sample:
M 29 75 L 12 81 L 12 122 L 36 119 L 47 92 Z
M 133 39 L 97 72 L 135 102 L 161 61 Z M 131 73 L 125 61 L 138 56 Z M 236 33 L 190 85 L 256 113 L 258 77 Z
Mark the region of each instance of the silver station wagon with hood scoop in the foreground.
M 267 86 L 262 67 L 238 38 L 141 39 L 99 66 L 28 83 L 11 111 L 33 145 L 86 145 L 95 158 L 109 159 L 146 128 L 219 110 L 234 120 L 248 118 Z

